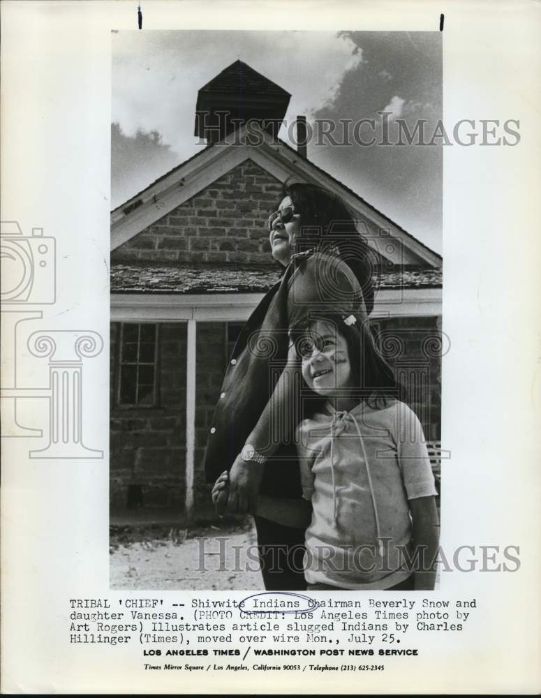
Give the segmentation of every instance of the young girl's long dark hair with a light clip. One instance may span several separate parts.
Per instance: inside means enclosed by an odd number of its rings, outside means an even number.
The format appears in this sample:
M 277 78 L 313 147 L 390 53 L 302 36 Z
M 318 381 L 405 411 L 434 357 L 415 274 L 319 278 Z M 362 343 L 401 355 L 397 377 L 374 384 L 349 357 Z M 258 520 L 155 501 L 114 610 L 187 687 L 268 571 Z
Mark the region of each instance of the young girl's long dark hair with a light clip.
M 403 386 L 394 376 L 394 372 L 385 359 L 380 355 L 366 321 L 363 327 L 357 322 L 347 325 L 341 315 L 334 313 L 318 313 L 317 317 L 304 320 L 302 324 L 290 329 L 290 339 L 295 342 L 299 357 L 302 356 L 302 343 L 306 336 L 313 333 L 316 322 L 328 322 L 338 334 L 346 339 L 348 356 L 353 373 L 353 389 L 351 396 L 359 401 L 364 400 L 373 408 L 383 408 L 392 399 L 403 400 Z M 313 392 L 303 380 L 304 416 L 321 411 L 327 399 Z

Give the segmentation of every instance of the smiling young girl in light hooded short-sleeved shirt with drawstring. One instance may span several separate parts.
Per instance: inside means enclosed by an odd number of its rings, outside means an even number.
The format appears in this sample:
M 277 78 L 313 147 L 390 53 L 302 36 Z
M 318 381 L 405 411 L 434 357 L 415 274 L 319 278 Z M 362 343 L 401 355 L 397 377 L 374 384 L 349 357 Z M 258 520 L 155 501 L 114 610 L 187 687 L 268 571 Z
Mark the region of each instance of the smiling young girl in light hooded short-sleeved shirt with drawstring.
M 296 432 L 313 507 L 308 588 L 433 589 L 436 489 L 419 420 L 355 316 L 311 320 L 292 339 L 310 415 Z

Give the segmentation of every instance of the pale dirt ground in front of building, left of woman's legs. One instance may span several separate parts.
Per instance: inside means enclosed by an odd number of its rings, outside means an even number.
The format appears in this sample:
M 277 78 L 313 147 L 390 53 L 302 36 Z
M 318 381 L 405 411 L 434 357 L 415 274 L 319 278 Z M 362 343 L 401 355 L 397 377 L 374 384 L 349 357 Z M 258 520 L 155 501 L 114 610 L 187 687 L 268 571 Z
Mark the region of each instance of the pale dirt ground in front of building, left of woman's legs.
M 110 588 L 263 590 L 251 519 L 176 526 L 112 526 Z

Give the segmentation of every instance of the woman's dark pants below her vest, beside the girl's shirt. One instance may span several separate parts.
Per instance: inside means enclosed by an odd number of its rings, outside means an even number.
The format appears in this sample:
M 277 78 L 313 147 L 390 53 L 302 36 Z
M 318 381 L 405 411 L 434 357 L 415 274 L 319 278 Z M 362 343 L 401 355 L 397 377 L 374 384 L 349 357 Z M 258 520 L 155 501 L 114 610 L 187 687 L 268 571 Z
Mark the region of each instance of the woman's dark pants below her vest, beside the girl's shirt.
M 254 517 L 261 573 L 267 591 L 304 591 L 304 528 Z

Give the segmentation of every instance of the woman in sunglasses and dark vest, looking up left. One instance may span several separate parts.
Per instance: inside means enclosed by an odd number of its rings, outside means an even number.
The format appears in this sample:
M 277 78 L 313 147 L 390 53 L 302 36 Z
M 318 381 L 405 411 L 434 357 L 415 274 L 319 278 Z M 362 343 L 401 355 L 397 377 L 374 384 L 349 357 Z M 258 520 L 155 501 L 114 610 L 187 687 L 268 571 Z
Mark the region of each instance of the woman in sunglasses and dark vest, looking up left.
M 329 191 L 292 184 L 269 216 L 272 256 L 286 267 L 244 326 L 210 429 L 205 472 L 230 471 L 218 512 L 255 514 L 267 589 L 305 588 L 309 505 L 302 500 L 295 427 L 302 419 L 300 366 L 289 327 L 329 311 L 367 327 L 375 255 L 346 206 Z M 385 362 L 383 370 L 390 371 Z

